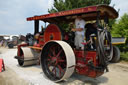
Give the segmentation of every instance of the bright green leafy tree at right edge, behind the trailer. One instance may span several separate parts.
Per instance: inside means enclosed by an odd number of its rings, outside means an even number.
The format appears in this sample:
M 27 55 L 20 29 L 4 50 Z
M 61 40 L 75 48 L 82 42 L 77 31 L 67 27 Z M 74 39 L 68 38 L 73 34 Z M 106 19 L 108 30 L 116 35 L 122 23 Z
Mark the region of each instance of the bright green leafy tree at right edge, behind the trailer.
M 111 30 L 113 37 L 125 37 L 126 44 L 119 45 L 121 51 L 128 51 L 128 14 L 124 14 L 116 23 L 113 24 Z

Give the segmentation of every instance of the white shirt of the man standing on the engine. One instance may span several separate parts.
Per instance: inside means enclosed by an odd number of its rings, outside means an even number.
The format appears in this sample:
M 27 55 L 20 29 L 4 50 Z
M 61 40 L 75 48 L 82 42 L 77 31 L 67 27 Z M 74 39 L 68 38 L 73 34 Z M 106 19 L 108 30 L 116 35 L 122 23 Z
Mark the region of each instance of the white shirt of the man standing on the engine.
M 82 31 L 76 31 L 76 34 L 84 36 L 85 21 L 83 19 L 79 20 L 79 19 L 76 18 L 75 19 L 75 25 L 76 25 L 76 29 L 77 28 L 83 28 Z

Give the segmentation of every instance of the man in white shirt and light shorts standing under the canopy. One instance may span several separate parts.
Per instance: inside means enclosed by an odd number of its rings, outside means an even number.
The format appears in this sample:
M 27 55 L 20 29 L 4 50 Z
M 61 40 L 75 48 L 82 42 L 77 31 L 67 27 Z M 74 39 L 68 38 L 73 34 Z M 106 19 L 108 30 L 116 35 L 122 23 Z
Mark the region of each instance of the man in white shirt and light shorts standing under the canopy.
M 84 49 L 84 45 L 81 43 L 84 42 L 84 27 L 85 21 L 81 18 L 81 16 L 77 16 L 75 19 L 75 28 L 72 28 L 72 31 L 75 32 L 75 46 L 76 49 Z

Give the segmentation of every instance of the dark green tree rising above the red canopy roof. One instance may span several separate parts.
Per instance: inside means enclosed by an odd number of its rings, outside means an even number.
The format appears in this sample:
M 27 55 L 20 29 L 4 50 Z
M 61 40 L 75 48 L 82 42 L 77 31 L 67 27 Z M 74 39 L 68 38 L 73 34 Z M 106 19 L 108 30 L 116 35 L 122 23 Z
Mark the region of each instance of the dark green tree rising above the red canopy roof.
M 48 12 L 55 13 L 97 4 L 109 5 L 110 3 L 111 0 L 54 0 L 53 7 L 48 9 Z

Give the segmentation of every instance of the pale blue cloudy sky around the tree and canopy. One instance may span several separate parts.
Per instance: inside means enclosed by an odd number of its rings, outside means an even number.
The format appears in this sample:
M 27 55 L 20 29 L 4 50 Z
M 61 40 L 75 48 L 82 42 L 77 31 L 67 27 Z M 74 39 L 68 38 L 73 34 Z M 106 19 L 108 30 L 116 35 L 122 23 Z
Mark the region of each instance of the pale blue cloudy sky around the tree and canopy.
M 112 0 L 110 5 L 114 4 L 119 17 L 128 13 L 128 0 Z M 26 18 L 47 14 L 52 6 L 53 0 L 0 0 L 0 35 L 33 33 L 34 23 Z

